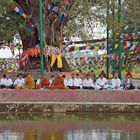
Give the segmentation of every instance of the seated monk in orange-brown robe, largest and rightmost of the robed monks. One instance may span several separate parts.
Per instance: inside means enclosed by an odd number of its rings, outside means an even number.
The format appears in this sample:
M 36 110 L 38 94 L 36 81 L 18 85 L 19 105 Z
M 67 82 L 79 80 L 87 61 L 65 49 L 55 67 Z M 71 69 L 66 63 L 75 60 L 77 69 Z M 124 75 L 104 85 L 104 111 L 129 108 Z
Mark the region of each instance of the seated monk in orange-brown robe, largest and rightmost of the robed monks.
M 64 79 L 61 77 L 60 74 L 54 79 L 52 85 L 50 86 L 51 89 L 67 89 L 64 85 Z

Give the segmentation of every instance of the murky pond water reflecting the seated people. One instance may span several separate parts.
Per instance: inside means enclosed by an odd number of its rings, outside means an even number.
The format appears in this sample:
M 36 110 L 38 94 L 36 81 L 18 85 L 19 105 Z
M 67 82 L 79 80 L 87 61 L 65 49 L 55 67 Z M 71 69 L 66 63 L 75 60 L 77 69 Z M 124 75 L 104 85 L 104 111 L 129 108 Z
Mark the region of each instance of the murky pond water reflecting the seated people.
M 140 115 L 4 114 L 0 140 L 140 140 Z

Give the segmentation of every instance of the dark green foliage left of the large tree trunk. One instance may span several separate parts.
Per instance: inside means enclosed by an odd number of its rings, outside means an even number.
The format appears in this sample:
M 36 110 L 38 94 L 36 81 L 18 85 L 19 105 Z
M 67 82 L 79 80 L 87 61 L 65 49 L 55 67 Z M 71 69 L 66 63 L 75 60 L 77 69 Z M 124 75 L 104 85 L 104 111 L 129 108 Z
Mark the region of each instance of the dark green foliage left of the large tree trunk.
M 12 9 L 12 0 L 0 2 L 0 40 L 12 41 L 24 29 L 24 20 Z M 25 33 L 24 33 L 25 34 Z

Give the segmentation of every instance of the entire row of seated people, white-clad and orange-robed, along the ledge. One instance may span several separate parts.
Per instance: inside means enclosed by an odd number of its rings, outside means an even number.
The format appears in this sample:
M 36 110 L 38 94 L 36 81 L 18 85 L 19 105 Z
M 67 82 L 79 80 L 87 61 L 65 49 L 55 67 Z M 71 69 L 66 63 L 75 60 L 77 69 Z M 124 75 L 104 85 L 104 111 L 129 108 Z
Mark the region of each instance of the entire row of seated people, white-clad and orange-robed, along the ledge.
M 49 80 L 46 76 L 42 76 L 36 82 L 30 74 L 24 76 L 23 74 L 18 74 L 14 82 L 6 74 L 0 79 L 0 86 L 2 89 L 135 89 L 130 74 L 127 74 L 121 81 L 118 78 L 118 74 L 115 73 L 114 78 L 109 82 L 103 72 L 97 80 L 95 80 L 95 76 L 91 78 L 91 74 L 86 74 L 86 78 L 82 80 L 79 74 L 72 74 L 71 78 L 67 79 L 65 75 L 58 73 L 56 77 L 52 75 Z

